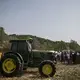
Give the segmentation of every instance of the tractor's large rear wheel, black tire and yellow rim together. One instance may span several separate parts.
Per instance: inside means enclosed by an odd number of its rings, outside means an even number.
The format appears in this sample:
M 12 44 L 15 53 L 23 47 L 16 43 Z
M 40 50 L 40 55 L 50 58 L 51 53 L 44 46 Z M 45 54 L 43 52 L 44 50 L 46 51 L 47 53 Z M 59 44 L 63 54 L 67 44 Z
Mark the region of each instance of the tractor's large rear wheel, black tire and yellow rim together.
M 3 76 L 17 76 L 22 71 L 21 67 L 21 60 L 15 54 L 7 54 L 1 59 L 1 74 Z

